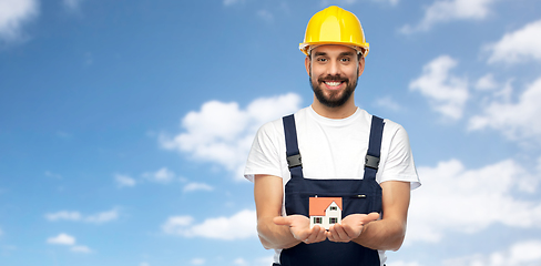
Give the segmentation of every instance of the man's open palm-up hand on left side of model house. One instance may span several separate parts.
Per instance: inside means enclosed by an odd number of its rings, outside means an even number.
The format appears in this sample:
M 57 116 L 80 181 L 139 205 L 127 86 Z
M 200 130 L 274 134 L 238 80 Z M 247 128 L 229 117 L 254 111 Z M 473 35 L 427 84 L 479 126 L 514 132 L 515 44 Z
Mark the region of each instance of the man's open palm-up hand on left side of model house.
M 275 217 L 273 222 L 277 225 L 287 225 L 293 236 L 306 244 L 323 242 L 326 238 L 325 228 L 319 225 L 310 228 L 310 219 L 303 215 L 289 215 Z

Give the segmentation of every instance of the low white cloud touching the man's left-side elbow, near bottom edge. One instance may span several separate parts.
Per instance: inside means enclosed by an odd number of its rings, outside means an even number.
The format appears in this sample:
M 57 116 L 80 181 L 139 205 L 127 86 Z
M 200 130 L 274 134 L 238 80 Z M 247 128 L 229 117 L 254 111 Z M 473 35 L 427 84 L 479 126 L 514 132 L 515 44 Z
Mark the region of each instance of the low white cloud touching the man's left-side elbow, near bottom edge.
M 205 237 L 224 241 L 255 237 L 255 211 L 244 209 L 231 217 L 207 218 L 201 224 L 193 224 L 191 216 L 170 217 L 162 229 L 166 234 L 184 237 Z

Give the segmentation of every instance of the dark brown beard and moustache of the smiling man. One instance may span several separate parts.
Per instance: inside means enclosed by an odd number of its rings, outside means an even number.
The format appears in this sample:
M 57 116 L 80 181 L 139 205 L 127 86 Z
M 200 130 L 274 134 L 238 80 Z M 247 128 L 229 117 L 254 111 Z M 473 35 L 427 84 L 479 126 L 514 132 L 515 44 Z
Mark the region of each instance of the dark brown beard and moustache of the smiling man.
M 343 91 L 330 91 L 328 95 L 325 95 L 323 89 L 319 86 L 319 84 L 324 83 L 324 80 L 343 81 L 346 83 L 346 89 L 344 89 Z M 327 75 L 325 78 L 319 78 L 316 82 L 314 82 L 312 80 L 310 73 L 309 82 L 312 90 L 316 95 L 316 99 L 327 108 L 339 108 L 344 105 L 349 100 L 351 94 L 354 94 L 355 88 L 357 88 L 357 79 L 355 79 L 353 82 L 349 82 L 349 79 L 341 78 L 340 75 Z

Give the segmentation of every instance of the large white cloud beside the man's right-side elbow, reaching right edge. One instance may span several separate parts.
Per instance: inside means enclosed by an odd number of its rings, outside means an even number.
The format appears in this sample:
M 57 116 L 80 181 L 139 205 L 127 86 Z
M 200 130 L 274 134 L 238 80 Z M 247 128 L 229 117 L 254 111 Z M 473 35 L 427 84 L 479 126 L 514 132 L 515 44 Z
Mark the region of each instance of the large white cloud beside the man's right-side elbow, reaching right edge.
M 438 243 L 447 234 L 472 234 L 496 223 L 541 228 L 541 202 L 513 196 L 534 194 L 540 178 L 512 160 L 477 170 L 450 160 L 418 172 L 425 188 L 411 194 L 407 243 Z

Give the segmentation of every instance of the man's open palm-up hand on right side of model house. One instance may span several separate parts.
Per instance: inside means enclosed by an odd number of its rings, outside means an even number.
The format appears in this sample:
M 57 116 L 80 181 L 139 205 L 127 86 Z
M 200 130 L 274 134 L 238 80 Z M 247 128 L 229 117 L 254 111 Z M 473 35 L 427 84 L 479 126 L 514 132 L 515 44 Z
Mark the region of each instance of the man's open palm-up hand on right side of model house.
M 378 218 L 378 213 L 350 214 L 343 218 L 340 224 L 331 225 L 326 232 L 326 237 L 331 242 L 350 242 L 360 236 L 366 224 Z

